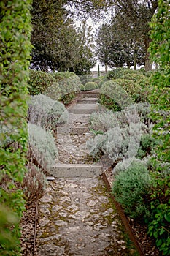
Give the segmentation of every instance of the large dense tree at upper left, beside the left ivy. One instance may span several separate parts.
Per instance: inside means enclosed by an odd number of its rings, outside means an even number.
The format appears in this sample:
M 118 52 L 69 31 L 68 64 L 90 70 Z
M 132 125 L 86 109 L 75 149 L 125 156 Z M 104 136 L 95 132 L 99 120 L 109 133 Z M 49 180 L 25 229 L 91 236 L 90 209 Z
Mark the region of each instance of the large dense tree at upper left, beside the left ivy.
M 90 72 L 94 61 L 89 29 L 87 26 L 77 29 L 73 18 L 77 12 L 82 18 L 83 14 L 94 15 L 105 5 L 106 1 L 34 0 L 31 68 L 72 70 L 77 74 Z

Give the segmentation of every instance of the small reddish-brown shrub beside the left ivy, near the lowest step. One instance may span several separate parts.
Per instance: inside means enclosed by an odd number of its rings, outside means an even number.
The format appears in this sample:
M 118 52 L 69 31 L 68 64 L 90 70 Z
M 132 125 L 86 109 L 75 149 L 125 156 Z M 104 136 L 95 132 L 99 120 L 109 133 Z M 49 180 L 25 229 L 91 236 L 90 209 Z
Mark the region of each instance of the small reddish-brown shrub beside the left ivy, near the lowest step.
M 23 178 L 21 187 L 26 196 L 27 203 L 32 203 L 41 198 L 46 191 L 47 178 L 45 174 L 31 162 L 28 163 L 28 171 Z

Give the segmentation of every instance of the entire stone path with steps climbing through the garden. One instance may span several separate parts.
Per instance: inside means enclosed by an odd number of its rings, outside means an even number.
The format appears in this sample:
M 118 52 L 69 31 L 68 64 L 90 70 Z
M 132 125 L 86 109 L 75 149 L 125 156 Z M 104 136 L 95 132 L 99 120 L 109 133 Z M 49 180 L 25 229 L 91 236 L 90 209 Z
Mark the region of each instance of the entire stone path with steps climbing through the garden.
M 85 148 L 92 136 L 87 109 L 98 110 L 96 96 L 85 95 L 69 109 L 68 124 L 58 128 L 60 154 L 51 170 L 58 178 L 49 182 L 39 200 L 38 256 L 137 255 L 127 246 L 125 230 L 100 178 L 101 167 L 90 162 Z M 73 128 L 79 132 L 71 132 Z

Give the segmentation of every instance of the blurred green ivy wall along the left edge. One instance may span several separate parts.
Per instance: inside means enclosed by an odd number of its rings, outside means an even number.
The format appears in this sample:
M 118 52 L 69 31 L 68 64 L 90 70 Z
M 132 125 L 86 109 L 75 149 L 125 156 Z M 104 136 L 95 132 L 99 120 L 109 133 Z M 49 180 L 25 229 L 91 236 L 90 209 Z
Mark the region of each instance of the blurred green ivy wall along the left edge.
M 11 216 L 20 219 L 25 201 L 23 192 L 15 187 L 26 171 L 27 124 L 26 93 L 30 60 L 31 1 L 0 2 L 0 140 L 20 143 L 17 147 L 2 146 L 0 151 L 0 209 L 8 206 Z M 1 143 L 2 144 L 2 143 Z M 4 206 L 2 206 L 4 205 Z M 3 208 L 2 208 L 3 207 Z M 20 255 L 19 222 L 4 219 L 1 227 L 0 255 Z M 13 224 L 13 225 L 11 225 Z M 6 238 L 4 239 L 4 236 Z

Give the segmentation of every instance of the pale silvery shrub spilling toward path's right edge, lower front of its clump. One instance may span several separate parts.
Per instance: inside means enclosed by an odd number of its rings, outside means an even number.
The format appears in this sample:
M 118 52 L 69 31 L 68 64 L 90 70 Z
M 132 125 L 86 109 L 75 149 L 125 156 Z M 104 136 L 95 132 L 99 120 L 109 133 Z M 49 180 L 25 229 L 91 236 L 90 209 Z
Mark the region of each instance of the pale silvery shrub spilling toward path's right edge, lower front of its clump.
M 95 157 L 102 152 L 113 162 L 117 162 L 137 154 L 141 132 L 140 123 L 132 123 L 125 128 L 114 127 L 103 135 L 96 135 L 95 138 L 88 140 L 86 146 L 91 156 Z

